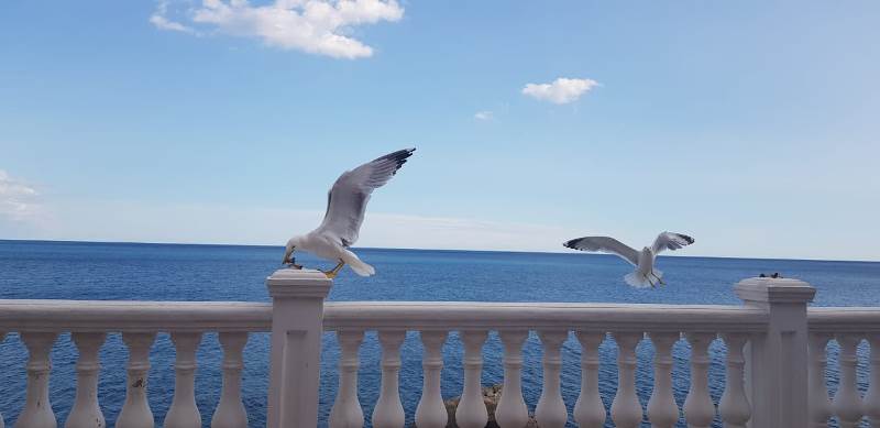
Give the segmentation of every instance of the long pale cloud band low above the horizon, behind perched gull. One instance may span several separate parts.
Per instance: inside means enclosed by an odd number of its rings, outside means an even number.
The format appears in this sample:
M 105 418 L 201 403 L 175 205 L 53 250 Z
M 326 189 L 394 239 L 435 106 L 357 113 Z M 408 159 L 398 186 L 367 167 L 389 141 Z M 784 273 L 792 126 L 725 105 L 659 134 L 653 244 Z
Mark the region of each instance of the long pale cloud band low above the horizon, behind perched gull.
M 56 213 L 28 239 L 283 244 L 320 224 L 323 210 L 123 200 L 55 201 Z M 234 224 L 234 227 L 231 227 Z M 370 212 L 358 246 L 565 251 L 581 231 L 559 226 Z

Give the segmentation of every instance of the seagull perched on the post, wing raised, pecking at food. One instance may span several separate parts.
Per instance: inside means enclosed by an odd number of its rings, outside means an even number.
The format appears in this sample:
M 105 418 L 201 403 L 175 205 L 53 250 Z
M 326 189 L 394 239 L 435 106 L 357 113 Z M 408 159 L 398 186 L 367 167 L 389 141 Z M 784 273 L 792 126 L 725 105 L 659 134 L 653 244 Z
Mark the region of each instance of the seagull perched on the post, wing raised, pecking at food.
M 375 274 L 376 270 L 358 259 L 349 246 L 358 241 L 370 195 L 388 183 L 415 151 L 416 149 L 398 150 L 342 173 L 327 194 L 327 212 L 321 226 L 306 234 L 290 238 L 282 263 L 302 268 L 293 256 L 294 251 L 300 250 L 337 262 L 336 267 L 324 272 L 329 278 L 334 278 L 345 264 L 358 275 Z

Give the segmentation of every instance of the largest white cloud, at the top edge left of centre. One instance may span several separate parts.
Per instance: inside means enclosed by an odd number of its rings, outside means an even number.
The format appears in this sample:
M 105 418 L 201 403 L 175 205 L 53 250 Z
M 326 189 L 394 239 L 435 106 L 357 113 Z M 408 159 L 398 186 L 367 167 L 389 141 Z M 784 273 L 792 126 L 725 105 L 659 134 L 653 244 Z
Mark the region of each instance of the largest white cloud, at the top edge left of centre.
M 167 14 L 167 3 L 160 2 L 150 22 L 162 30 L 197 34 Z M 248 0 L 202 0 L 186 15 L 194 24 L 260 39 L 268 46 L 354 59 L 372 56 L 373 48 L 352 36 L 353 28 L 399 21 L 404 9 L 396 0 L 275 0 L 263 6 Z

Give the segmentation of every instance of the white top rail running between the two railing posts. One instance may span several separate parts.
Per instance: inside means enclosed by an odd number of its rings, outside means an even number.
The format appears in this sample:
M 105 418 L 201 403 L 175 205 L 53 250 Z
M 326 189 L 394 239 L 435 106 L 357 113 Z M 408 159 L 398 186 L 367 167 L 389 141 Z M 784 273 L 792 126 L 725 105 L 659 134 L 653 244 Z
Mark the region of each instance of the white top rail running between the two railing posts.
M 744 306 L 474 301 L 327 303 L 324 329 L 747 332 L 767 312 Z

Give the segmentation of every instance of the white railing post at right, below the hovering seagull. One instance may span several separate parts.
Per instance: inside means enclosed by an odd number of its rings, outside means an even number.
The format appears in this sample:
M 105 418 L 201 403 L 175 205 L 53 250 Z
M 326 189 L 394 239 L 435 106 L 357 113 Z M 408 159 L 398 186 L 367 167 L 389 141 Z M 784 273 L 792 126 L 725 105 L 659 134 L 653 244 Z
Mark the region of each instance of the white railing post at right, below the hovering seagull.
M 767 331 L 755 334 L 746 352 L 746 394 L 751 428 L 807 426 L 806 304 L 816 289 L 789 278 L 748 278 L 736 287 L 746 306 L 767 310 Z

